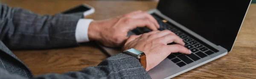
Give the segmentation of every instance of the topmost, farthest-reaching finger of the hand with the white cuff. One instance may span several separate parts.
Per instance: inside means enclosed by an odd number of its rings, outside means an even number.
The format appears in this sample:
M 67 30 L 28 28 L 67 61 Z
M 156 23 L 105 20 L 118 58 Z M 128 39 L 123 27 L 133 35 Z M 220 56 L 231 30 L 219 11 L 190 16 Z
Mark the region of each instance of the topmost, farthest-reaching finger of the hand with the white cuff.
M 157 28 L 160 28 L 160 25 L 157 23 L 157 20 L 151 16 L 150 14 L 148 14 L 147 12 L 135 12 L 133 14 L 129 14 L 126 17 L 130 17 L 130 18 L 147 18 L 148 20 L 150 20 L 152 23 L 154 23 L 155 26 L 157 26 Z

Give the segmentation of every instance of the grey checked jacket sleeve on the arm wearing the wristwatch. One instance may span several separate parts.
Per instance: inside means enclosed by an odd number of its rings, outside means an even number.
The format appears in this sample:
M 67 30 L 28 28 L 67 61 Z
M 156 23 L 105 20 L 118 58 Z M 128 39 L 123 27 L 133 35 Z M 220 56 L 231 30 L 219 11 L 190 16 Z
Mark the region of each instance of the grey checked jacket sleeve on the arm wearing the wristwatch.
M 11 75 L 7 75 L 13 78 Z M 1 78 L 0 78 L 1 79 Z M 139 60 L 126 54 L 117 54 L 102 61 L 98 66 L 63 74 L 49 73 L 32 79 L 151 79 Z

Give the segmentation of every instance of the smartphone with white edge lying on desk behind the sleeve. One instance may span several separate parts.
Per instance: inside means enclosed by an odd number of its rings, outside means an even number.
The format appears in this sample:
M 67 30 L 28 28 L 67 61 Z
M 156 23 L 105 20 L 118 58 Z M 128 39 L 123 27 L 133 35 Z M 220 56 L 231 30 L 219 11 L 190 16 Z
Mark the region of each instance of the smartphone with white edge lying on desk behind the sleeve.
M 61 12 L 62 14 L 76 14 L 76 15 L 83 15 L 83 17 L 93 14 L 95 9 L 92 6 L 89 6 L 88 4 L 81 4 L 79 6 L 76 6 L 74 8 L 70 8 L 67 11 Z

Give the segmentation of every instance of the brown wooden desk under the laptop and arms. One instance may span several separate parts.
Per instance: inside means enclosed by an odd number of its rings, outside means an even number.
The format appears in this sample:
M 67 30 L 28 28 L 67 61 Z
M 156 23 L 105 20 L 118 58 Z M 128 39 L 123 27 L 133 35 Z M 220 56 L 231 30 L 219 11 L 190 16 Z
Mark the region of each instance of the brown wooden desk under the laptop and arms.
M 96 12 L 87 18 L 102 20 L 134 10 L 147 11 L 157 6 L 153 1 L 69 1 L 69 0 L 2 0 L 13 7 L 22 7 L 39 14 L 55 14 L 67 8 L 87 3 Z M 256 78 L 256 4 L 252 4 L 237 37 L 233 51 L 226 56 L 183 73 L 174 79 L 245 79 Z M 79 71 L 99 64 L 108 56 L 93 42 L 79 47 L 41 51 L 13 51 L 31 68 L 34 75 Z

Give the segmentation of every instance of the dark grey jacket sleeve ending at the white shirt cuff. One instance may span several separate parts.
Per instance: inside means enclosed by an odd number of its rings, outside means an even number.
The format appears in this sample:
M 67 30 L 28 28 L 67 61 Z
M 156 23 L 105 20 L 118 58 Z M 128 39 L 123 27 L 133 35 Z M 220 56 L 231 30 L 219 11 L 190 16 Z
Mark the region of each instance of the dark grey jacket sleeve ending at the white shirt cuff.
M 10 49 L 45 49 L 76 46 L 80 16 L 39 15 L 0 3 L 0 40 Z

